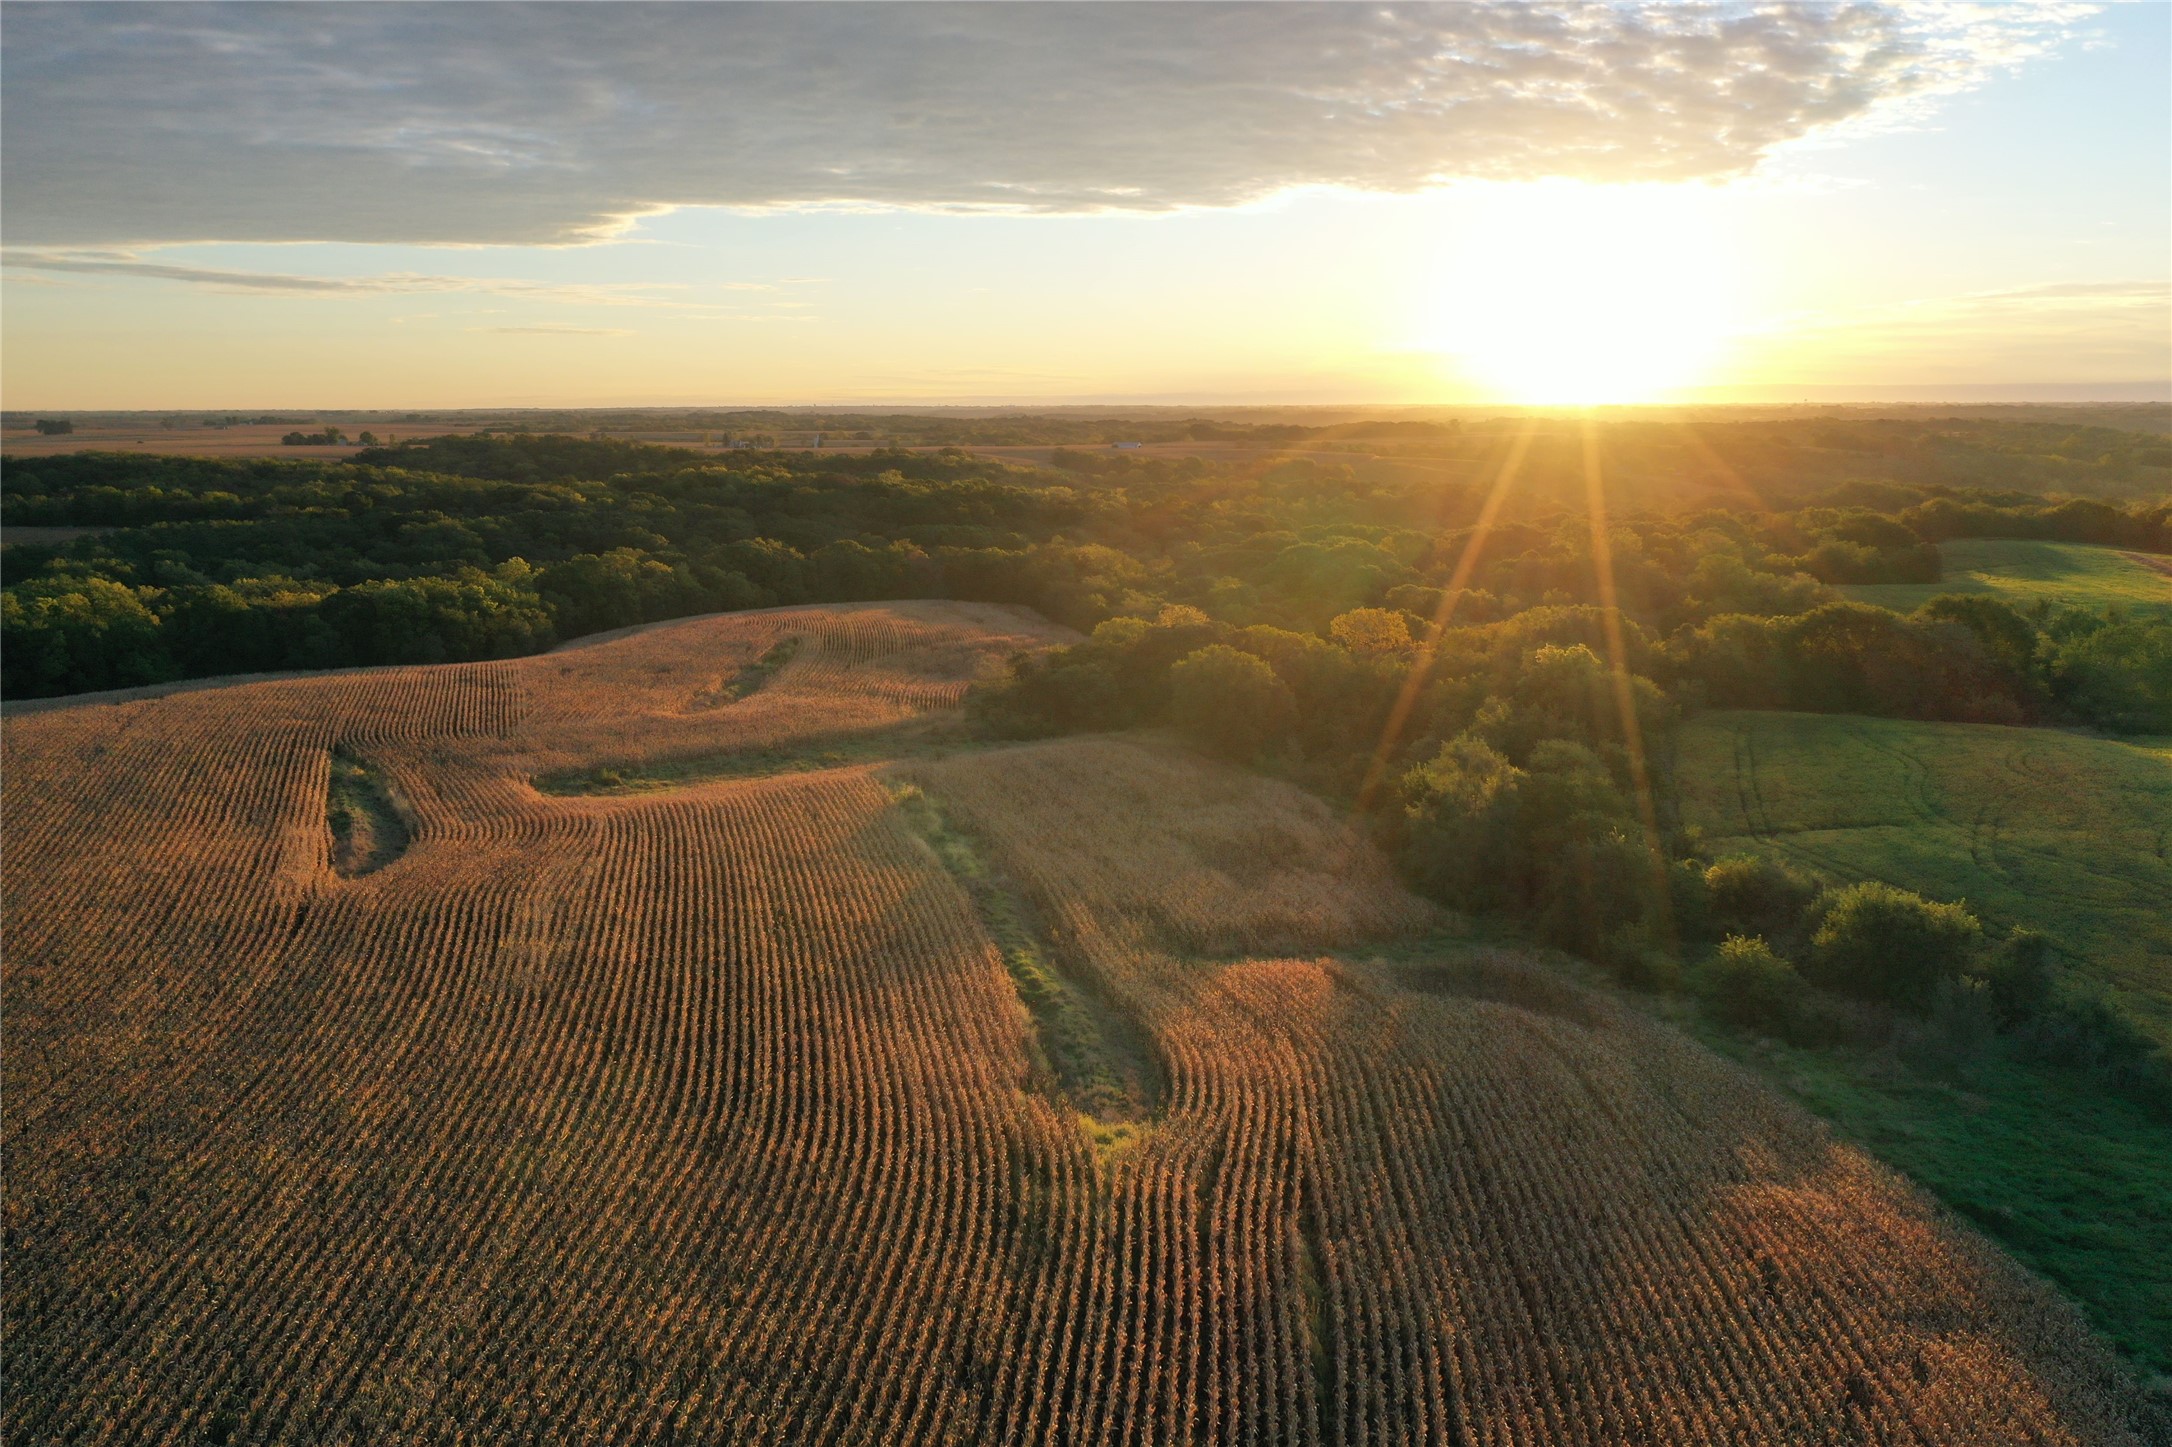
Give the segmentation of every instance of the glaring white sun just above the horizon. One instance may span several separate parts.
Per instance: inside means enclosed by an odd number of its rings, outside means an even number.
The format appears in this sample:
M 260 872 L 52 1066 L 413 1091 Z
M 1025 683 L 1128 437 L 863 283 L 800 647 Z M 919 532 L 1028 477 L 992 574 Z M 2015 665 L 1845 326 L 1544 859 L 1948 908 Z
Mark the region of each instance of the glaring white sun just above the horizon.
M 1418 343 L 1501 402 L 1653 402 L 1705 382 L 1735 330 L 1707 187 L 1460 189 Z

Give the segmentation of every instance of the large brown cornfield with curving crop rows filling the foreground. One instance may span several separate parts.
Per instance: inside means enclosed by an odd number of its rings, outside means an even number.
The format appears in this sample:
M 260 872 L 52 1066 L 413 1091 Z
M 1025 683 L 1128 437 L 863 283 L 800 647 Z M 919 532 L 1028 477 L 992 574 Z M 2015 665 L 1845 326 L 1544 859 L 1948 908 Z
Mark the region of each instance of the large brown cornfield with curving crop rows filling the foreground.
M 2048 1288 L 1685 1036 L 1425 954 L 1321 802 L 975 747 L 1056 637 L 11 715 L 7 1440 L 2137 1440 Z M 604 771 L 704 782 L 532 787 Z

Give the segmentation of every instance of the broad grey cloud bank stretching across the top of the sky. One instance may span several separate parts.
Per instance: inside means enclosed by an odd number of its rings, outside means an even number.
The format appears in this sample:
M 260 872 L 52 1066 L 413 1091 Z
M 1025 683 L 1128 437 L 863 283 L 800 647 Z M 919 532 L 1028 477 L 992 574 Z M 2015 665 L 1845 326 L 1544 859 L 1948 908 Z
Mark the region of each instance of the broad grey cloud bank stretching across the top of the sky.
M 2087 7 L 9 4 L 11 243 L 565 243 L 684 204 L 1166 211 L 1731 176 Z

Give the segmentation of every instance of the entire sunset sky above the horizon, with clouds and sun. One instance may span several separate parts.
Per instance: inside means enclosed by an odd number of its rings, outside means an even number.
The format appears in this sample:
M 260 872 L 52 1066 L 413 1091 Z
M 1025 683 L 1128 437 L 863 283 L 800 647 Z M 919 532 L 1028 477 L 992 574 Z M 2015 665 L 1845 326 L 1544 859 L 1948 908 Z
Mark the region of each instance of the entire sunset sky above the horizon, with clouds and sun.
M 2172 398 L 2172 4 L 0 9 L 0 400 Z

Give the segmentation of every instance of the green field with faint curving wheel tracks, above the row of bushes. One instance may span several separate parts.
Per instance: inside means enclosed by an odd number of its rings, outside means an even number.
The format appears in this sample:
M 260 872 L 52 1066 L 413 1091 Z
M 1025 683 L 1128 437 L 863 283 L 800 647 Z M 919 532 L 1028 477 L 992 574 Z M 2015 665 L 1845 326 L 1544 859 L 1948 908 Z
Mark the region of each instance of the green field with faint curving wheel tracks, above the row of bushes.
M 1712 713 L 1681 732 L 1683 821 L 1838 880 L 1968 899 L 2050 934 L 2172 1041 L 2172 756 L 2042 728 Z

